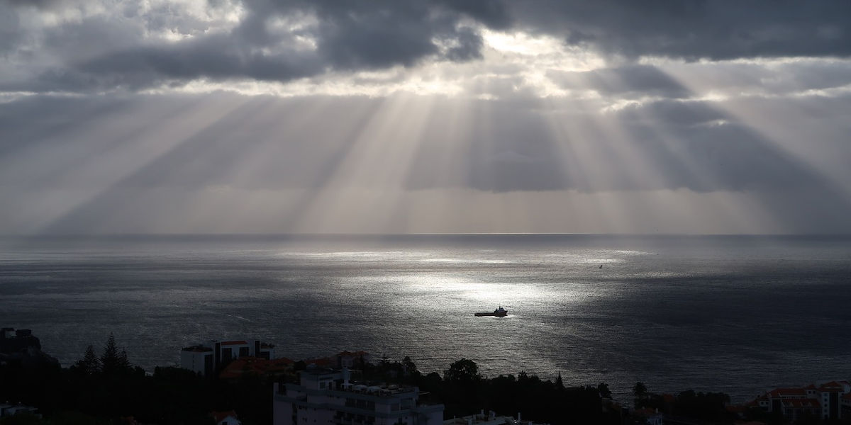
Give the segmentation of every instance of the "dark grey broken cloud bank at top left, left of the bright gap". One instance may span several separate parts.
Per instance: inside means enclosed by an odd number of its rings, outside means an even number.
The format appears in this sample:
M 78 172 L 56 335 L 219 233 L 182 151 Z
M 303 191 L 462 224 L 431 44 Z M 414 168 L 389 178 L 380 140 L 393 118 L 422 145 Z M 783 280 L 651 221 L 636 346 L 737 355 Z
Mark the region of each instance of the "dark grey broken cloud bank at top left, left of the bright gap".
M 426 56 L 465 61 L 480 57 L 483 42 L 477 31 L 459 26 L 460 20 L 477 13 L 488 21 L 500 21 L 499 8 L 465 3 L 456 7 L 454 2 L 248 1 L 244 5 L 247 15 L 232 31 L 202 32 L 180 42 L 155 43 L 135 34 L 136 42 L 117 46 L 112 40 L 123 34 L 111 31 L 110 22 L 99 18 L 50 29 L 45 49 L 62 54 L 71 48 L 65 63 L 43 71 L 37 82 L 5 88 L 136 89 L 201 77 L 286 82 L 325 71 L 414 65 Z M 315 26 L 293 31 L 272 27 L 275 19 L 311 19 L 311 14 L 318 20 Z M 168 28 L 156 17 L 136 18 L 147 27 Z M 140 28 L 129 31 L 138 33 Z M 300 46 L 299 38 L 313 40 L 315 50 Z M 91 47 L 102 51 L 77 54 Z

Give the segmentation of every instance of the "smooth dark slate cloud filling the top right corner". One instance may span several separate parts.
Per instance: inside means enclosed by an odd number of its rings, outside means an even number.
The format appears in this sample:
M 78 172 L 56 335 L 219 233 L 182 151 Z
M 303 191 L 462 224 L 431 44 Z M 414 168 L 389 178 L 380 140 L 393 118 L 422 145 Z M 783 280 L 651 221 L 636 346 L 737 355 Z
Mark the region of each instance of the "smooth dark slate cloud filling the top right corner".
M 848 2 L 602 0 L 510 3 L 529 31 L 628 57 L 685 59 L 851 54 Z

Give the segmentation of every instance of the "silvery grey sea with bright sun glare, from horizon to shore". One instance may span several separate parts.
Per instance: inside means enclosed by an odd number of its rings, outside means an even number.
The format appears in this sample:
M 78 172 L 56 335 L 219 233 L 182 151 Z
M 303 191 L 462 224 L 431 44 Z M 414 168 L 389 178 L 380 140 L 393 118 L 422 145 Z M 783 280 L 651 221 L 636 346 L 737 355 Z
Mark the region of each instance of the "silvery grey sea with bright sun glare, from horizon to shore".
M 602 268 L 600 266 L 603 266 Z M 499 306 L 505 318 L 474 317 Z M 0 239 L 0 326 L 71 365 L 110 333 L 152 371 L 260 338 L 295 360 L 475 360 L 616 398 L 851 378 L 851 238 L 382 235 Z

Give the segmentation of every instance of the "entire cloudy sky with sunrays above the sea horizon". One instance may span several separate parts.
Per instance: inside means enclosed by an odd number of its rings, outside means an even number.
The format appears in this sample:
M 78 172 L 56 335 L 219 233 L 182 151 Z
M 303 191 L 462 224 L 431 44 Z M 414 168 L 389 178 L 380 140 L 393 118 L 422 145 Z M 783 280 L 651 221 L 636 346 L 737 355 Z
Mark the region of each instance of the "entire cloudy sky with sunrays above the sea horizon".
M 0 0 L 0 234 L 851 233 L 851 3 Z

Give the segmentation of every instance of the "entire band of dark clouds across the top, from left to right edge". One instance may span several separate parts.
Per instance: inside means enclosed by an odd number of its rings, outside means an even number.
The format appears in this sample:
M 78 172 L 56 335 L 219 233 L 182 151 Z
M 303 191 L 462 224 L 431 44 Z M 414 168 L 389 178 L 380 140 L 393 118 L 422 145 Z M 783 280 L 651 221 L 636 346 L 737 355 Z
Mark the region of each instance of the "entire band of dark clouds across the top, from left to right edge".
M 0 3 L 0 8 L 6 9 L 0 14 L 0 49 L 14 51 L 26 36 L 13 9 L 73 8 L 74 4 L 49 0 Z M 477 30 L 465 26 L 466 22 L 497 30 L 545 33 L 568 44 L 629 58 L 851 54 L 848 2 L 245 0 L 243 7 L 243 20 L 225 32 L 206 31 L 203 23 L 174 15 L 168 8 L 143 14 L 124 7 L 118 11 L 121 20 L 89 17 L 51 27 L 45 30 L 41 49 L 59 63 L 34 69 L 35 81 L 5 82 L 3 88 L 145 88 L 202 77 L 285 82 L 326 71 L 415 65 L 426 58 L 467 61 L 481 57 L 483 39 Z M 315 17 L 316 24 L 292 31 L 271 28 L 272 20 L 307 16 Z M 129 21 L 134 24 L 127 25 Z M 192 37 L 163 42 L 144 36 L 146 31 L 166 29 Z M 313 40 L 316 49 L 298 48 L 298 37 Z M 625 82 L 637 88 L 665 90 L 664 78 L 650 68 L 631 71 L 615 77 L 637 78 Z M 588 77 L 598 82 L 608 78 L 602 74 Z

